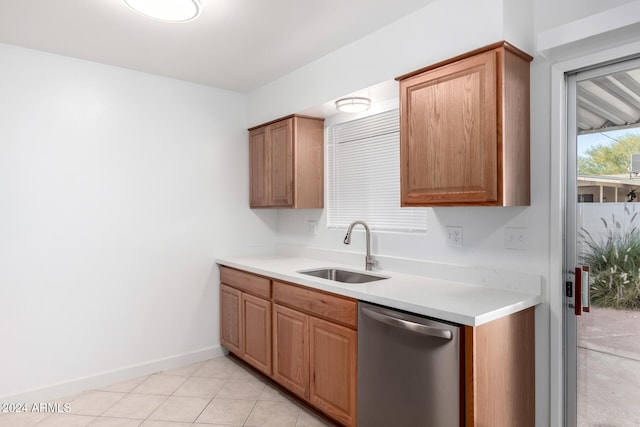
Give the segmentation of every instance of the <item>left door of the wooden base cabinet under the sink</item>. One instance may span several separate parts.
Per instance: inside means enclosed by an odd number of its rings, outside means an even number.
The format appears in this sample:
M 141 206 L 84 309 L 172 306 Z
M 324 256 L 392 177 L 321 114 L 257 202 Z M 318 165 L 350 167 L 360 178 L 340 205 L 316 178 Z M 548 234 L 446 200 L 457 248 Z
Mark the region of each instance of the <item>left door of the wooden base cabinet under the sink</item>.
M 309 316 L 273 305 L 273 377 L 309 398 Z

